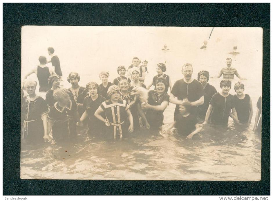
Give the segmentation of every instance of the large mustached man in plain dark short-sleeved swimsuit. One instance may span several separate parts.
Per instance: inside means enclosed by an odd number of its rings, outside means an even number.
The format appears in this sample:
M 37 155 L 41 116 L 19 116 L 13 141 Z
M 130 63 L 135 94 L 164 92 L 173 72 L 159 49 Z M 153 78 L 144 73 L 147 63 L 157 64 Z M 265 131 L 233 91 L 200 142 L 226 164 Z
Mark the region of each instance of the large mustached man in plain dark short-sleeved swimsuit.
M 174 116 L 179 112 L 179 105 L 189 102 L 191 106 L 190 113 L 194 114 L 196 119 L 197 106 L 204 103 L 205 92 L 203 86 L 198 80 L 191 77 L 192 72 L 192 65 L 189 63 L 184 64 L 182 67 L 184 78 L 177 80 L 171 89 L 170 102 L 176 104 Z

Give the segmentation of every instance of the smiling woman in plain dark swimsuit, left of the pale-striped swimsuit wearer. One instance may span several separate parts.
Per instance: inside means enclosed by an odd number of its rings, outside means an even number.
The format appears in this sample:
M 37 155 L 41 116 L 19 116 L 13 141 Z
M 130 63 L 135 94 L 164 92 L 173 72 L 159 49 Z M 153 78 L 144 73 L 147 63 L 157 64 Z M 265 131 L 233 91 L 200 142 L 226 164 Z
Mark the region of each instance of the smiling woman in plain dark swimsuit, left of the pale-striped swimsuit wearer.
M 99 85 L 96 82 L 88 82 L 86 84 L 86 89 L 88 90 L 89 96 L 84 98 L 83 106 L 85 112 L 80 118 L 79 125 L 82 125 L 84 120 L 88 118 L 89 133 L 93 135 L 102 135 L 105 125 L 97 119 L 94 114 L 102 102 L 106 101 L 106 98 L 97 93 Z

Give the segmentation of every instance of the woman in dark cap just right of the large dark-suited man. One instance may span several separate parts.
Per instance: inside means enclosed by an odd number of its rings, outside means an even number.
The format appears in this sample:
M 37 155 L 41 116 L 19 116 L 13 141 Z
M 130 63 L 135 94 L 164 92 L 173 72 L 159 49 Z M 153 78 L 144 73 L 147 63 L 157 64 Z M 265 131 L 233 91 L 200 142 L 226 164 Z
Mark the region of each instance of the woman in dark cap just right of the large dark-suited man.
M 209 107 L 209 101 L 211 100 L 212 96 L 217 93 L 217 91 L 214 86 L 207 83 L 209 81 L 208 71 L 200 71 L 197 75 L 197 80 L 201 83 L 205 91 L 204 104 L 198 106 L 198 118 L 204 121 L 207 109 Z

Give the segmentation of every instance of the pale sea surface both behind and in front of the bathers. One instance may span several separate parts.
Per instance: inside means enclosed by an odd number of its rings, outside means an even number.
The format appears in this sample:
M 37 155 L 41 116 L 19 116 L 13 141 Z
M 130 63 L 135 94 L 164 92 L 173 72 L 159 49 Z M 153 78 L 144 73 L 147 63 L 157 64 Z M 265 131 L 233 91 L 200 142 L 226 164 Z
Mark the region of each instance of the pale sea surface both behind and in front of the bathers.
M 256 103 L 262 94 L 262 30 L 260 28 L 211 27 L 31 27 L 22 28 L 22 76 L 39 64 L 53 46 L 63 71 L 62 85 L 70 87 L 66 78 L 77 71 L 84 86 L 89 81 L 101 83 L 100 71 L 109 71 L 109 81 L 117 75 L 117 67 L 128 67 L 134 56 L 148 61 L 145 84 L 156 75 L 156 64 L 165 63 L 172 83 L 182 78 L 184 63 L 193 65 L 193 78 L 200 70 L 214 78 L 209 83 L 220 90 L 218 71 L 225 59 L 247 80 L 245 94 L 253 104 L 252 123 L 227 128 L 206 125 L 193 140 L 178 136 L 166 127 L 173 122 L 175 105 L 164 111 L 164 125 L 159 131 L 141 128 L 122 141 L 109 142 L 78 128 L 70 143 L 21 142 L 22 179 L 107 179 L 107 180 L 247 180 L 261 178 L 261 141 L 252 131 Z M 248 35 L 247 40 L 245 35 Z M 200 49 L 207 40 L 207 49 Z M 167 44 L 169 51 L 162 51 Z M 237 46 L 240 54 L 229 54 Z M 50 64 L 49 64 L 50 66 Z M 32 74 L 30 79 L 37 80 Z M 235 94 L 232 81 L 230 94 Z M 37 94 L 45 97 L 44 93 Z M 152 88 L 151 88 L 152 89 Z M 25 95 L 26 95 L 26 91 Z

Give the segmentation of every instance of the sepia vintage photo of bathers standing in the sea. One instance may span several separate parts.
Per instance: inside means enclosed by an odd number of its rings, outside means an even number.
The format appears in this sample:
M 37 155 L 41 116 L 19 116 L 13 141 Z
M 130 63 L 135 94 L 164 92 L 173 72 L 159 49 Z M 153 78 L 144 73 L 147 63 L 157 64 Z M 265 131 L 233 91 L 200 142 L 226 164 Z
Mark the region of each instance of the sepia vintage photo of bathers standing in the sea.
M 21 179 L 261 179 L 263 29 L 22 26 Z

